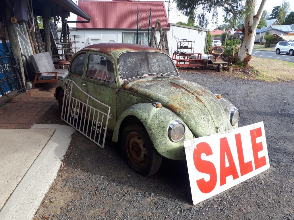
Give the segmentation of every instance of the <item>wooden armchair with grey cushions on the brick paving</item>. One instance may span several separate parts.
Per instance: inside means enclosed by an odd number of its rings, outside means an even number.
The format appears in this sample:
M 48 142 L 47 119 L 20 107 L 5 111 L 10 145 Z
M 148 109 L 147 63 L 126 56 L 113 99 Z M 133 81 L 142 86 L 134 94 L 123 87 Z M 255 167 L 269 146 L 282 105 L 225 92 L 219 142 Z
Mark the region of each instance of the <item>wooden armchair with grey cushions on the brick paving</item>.
M 36 74 L 32 89 L 34 89 L 35 84 L 58 82 L 59 79 L 68 75 L 68 69 L 56 69 L 56 67 L 64 65 L 54 65 L 49 52 L 31 55 L 30 60 Z

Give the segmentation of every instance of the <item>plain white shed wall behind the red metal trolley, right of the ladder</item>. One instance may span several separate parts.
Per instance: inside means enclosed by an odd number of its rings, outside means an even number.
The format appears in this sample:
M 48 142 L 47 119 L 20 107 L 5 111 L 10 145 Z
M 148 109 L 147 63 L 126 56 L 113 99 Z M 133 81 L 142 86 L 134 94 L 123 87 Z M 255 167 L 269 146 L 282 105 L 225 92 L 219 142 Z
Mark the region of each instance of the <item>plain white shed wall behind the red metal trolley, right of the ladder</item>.
M 168 47 L 170 55 L 172 55 L 174 50 L 177 50 L 177 42 L 174 36 L 187 39 L 187 41 L 195 41 L 194 53 L 205 53 L 207 31 L 198 31 L 193 27 L 187 27 L 178 24 L 170 24 L 170 26 L 170 30 L 168 31 Z

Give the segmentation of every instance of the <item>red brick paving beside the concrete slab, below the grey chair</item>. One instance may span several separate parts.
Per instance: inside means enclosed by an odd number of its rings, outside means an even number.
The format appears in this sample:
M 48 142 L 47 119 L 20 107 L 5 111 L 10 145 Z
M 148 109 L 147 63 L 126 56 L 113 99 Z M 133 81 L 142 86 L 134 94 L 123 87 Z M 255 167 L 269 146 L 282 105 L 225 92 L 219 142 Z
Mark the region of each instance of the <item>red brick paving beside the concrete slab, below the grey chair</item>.
M 30 128 L 56 104 L 54 92 L 55 85 L 51 84 L 42 91 L 34 90 L 16 96 L 14 103 L 6 104 L 12 105 L 12 108 L 2 114 L 0 112 L 0 128 Z

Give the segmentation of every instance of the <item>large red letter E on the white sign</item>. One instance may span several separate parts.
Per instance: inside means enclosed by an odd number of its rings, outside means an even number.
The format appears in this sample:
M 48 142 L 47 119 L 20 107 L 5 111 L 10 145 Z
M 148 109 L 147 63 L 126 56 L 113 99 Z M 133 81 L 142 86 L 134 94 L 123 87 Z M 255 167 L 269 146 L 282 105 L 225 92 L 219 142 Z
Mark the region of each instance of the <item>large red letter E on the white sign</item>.
M 250 136 L 251 136 L 251 144 L 252 144 L 252 150 L 253 150 L 255 170 L 257 170 L 258 168 L 266 165 L 265 156 L 261 158 L 258 157 L 258 152 L 263 150 L 262 142 L 256 143 L 256 138 L 259 138 L 262 136 L 261 128 L 255 128 L 253 130 L 250 130 Z

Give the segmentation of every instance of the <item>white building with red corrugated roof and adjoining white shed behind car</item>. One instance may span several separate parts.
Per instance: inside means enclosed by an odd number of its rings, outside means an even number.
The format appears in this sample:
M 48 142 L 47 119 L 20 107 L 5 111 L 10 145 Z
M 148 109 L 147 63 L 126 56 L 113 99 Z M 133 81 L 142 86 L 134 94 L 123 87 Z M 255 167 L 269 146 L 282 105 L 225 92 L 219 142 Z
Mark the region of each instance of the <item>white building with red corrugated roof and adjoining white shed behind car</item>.
M 150 7 L 152 8 L 152 27 L 159 18 L 162 30 L 167 31 L 170 55 L 177 50 L 177 42 L 174 36 L 195 41 L 195 53 L 204 53 L 208 30 L 196 30 L 194 27 L 168 23 L 166 9 L 163 1 L 93 1 L 79 0 L 78 6 L 88 13 L 92 20 L 88 23 L 76 23 L 76 28 L 71 28 L 70 34 L 78 35 L 79 38 L 71 37 L 76 43 L 76 51 L 85 46 L 96 43 L 136 43 L 137 34 L 137 7 L 139 9 L 138 41 L 148 45 L 151 38 L 151 28 L 148 35 L 148 22 Z M 77 21 L 83 21 L 77 17 Z M 140 20 L 144 20 L 140 22 Z M 149 36 L 149 38 L 148 38 Z M 157 42 L 160 40 L 159 31 L 156 31 Z M 138 43 L 139 43 L 138 42 Z

